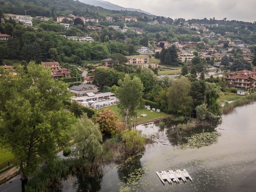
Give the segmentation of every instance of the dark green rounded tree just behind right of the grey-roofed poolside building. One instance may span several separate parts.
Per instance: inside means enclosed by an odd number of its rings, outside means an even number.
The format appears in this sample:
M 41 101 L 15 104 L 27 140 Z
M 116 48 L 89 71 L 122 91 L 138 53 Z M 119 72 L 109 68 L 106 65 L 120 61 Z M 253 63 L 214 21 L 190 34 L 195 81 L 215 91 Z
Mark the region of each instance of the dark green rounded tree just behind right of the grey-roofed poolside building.
M 93 72 L 93 75 L 94 81 L 98 86 L 100 86 L 100 89 L 104 86 L 111 87 L 118 81 L 118 75 L 116 71 L 112 69 L 98 68 Z

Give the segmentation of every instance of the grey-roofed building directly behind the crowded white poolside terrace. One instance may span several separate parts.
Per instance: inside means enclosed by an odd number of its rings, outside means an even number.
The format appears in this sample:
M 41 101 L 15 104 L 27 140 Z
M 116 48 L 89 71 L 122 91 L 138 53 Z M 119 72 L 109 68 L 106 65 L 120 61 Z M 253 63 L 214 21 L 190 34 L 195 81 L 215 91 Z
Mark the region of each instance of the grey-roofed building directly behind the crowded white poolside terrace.
M 94 94 L 98 94 L 99 90 L 96 85 L 83 84 L 78 86 L 74 85 L 70 87 L 70 92 L 77 97 L 82 97 L 82 96 L 93 96 Z

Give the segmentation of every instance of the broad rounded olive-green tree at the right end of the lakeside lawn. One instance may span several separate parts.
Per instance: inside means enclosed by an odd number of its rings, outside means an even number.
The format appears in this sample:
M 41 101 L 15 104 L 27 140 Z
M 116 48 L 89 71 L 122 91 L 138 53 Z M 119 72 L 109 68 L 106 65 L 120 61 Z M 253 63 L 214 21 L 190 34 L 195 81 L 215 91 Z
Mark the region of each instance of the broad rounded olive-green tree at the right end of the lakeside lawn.
M 172 83 L 167 92 L 168 110 L 174 114 L 190 116 L 192 112 L 192 97 L 189 96 L 190 81 L 181 77 Z

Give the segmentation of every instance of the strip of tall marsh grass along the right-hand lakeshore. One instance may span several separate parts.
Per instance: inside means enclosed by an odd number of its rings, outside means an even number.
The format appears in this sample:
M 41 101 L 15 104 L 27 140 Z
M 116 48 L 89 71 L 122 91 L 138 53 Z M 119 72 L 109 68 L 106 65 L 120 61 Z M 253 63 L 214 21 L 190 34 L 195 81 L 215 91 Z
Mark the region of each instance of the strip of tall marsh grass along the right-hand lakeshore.
M 232 103 L 226 103 L 223 106 L 222 114 L 227 115 L 234 112 L 236 107 L 250 104 L 251 102 L 256 101 L 256 94 L 250 94 L 248 96 L 241 96 L 240 99 L 234 100 Z

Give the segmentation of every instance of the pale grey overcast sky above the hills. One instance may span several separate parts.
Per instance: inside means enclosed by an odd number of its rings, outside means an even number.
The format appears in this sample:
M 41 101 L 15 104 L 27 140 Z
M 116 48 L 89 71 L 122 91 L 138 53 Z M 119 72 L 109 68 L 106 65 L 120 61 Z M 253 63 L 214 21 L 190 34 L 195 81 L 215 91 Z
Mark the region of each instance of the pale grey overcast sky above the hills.
M 256 21 L 256 0 L 107 0 L 170 18 Z

